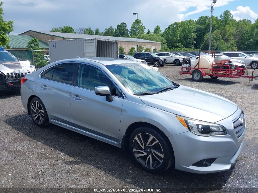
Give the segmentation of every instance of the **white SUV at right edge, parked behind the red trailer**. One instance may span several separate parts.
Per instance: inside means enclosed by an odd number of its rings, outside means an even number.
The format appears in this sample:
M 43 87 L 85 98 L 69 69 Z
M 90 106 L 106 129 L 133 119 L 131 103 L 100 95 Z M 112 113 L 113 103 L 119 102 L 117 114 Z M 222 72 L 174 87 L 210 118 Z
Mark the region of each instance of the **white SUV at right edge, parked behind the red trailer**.
M 247 66 L 251 66 L 251 68 L 258 68 L 257 57 L 252 57 L 243 52 L 221 52 L 220 54 L 227 55 L 233 59 L 242 60 Z

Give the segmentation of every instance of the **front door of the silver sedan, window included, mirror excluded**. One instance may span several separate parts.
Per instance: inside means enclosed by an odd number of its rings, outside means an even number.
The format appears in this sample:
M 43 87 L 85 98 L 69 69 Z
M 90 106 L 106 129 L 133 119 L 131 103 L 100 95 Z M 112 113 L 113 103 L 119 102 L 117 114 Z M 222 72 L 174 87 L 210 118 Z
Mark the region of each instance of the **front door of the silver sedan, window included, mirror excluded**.
M 95 94 L 98 86 L 110 88 L 112 102 Z M 81 63 L 70 97 L 73 126 L 118 141 L 123 100 L 121 90 L 102 70 Z

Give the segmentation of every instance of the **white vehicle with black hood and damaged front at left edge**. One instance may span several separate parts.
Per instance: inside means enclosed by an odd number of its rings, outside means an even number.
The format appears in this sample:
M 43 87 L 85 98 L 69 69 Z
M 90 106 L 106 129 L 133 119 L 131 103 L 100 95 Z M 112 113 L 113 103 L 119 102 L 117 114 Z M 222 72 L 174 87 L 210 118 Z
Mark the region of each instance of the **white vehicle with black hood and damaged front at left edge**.
M 35 71 L 30 62 L 20 61 L 0 47 L 0 91 L 19 90 L 21 77 Z

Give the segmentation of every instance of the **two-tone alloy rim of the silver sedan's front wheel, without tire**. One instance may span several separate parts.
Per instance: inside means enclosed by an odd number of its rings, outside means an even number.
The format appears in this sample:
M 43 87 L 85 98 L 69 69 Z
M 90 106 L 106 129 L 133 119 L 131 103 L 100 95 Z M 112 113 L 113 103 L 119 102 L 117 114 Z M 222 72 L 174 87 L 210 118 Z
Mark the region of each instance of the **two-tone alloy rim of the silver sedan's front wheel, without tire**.
M 140 133 L 133 139 L 133 153 L 137 161 L 148 169 L 159 167 L 164 158 L 162 146 L 151 134 Z

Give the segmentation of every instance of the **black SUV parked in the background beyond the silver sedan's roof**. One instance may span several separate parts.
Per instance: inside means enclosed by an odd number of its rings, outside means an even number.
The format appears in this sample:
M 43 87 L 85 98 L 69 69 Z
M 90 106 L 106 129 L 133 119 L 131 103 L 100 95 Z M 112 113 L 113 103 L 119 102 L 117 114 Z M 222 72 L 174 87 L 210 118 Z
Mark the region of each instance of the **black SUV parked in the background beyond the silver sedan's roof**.
M 155 67 L 163 67 L 167 63 L 165 57 L 158 56 L 149 52 L 138 52 L 133 55 L 136 59 L 145 60 L 147 64 L 154 65 Z

